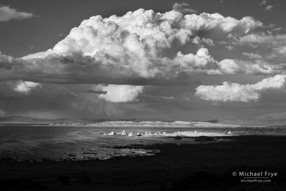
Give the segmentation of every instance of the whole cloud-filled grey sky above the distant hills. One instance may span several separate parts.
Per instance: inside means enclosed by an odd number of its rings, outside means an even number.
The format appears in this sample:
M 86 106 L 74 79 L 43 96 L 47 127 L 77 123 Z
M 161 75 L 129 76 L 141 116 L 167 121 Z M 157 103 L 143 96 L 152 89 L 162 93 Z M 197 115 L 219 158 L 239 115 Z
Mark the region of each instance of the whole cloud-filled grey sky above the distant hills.
M 285 111 L 284 0 L 0 0 L 0 116 Z

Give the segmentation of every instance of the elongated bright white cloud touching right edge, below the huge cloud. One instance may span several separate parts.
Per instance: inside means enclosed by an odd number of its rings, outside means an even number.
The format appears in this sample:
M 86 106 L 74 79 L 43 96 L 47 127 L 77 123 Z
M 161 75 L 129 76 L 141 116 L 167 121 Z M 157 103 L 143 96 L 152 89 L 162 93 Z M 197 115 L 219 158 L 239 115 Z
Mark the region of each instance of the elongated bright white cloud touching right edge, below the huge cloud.
M 256 84 L 241 85 L 223 82 L 218 86 L 198 86 L 195 95 L 205 100 L 212 101 L 258 101 L 261 91 L 285 88 L 286 75 L 275 75 L 265 78 Z

